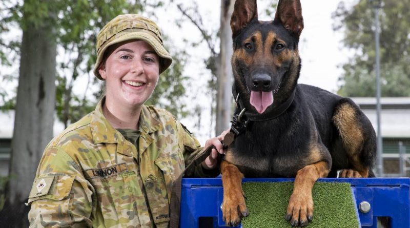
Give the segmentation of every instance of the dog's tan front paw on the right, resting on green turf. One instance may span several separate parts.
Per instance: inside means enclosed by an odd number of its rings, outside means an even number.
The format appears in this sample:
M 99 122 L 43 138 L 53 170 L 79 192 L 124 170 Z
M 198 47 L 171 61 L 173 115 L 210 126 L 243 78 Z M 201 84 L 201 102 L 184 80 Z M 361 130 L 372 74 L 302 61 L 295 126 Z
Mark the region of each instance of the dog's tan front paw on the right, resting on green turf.
M 300 194 L 292 194 L 289 199 L 288 210 L 285 219 L 292 226 L 305 226 L 313 219 L 312 195 L 302 197 Z

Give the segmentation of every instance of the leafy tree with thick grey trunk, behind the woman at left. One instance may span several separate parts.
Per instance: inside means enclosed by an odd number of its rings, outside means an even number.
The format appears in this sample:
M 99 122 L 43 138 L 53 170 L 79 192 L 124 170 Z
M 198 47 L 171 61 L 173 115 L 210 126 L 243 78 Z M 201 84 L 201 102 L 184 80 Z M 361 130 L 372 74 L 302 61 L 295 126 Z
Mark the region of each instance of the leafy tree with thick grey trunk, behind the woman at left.
M 27 218 L 29 207 L 24 202 L 27 202 L 39 159 L 52 138 L 54 108 L 67 126 L 95 106 L 90 97 L 79 97 L 72 90 L 74 81 L 82 75 L 88 76 L 89 84 L 96 81 L 89 72 L 95 63 L 97 32 L 116 15 L 141 12 L 143 5 L 159 7 L 161 2 L 113 0 L 106 4 L 103 0 L 25 0 L 22 6 L 15 1 L 0 4 L 7 11 L 0 14 L 0 33 L 7 32 L 12 23 L 23 30 L 21 43 L 0 42 L 2 65 L 10 61 L 5 48 L 13 48 L 20 54 L 17 98 L 16 102 L 8 102 L 8 108 L 15 108 L 16 115 L 4 206 L 7 213 L 0 213 L 2 224 L 28 226 L 24 218 Z M 57 49 L 60 56 L 67 58 L 56 60 Z M 180 87 L 181 80 L 185 79 L 181 76 L 183 63 L 179 63 L 183 58 L 183 55 L 175 58 L 171 71 L 167 72 L 169 75 L 158 86 L 154 104 L 162 104 L 161 94 L 168 93 L 167 97 L 178 100 L 184 93 Z M 3 92 L 0 91 L 0 95 L 5 97 Z M 178 107 L 171 110 L 176 115 L 182 113 L 182 108 Z

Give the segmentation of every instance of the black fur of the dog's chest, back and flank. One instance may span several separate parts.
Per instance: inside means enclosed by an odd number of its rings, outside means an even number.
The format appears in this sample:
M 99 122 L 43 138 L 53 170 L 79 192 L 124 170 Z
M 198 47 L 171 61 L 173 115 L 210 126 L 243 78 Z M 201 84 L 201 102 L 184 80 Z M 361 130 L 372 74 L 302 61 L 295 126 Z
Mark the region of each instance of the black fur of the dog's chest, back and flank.
M 360 162 L 369 168 L 368 176 L 374 177 L 376 141 L 367 117 L 349 98 L 300 84 L 296 86 L 291 106 L 282 115 L 271 120 L 251 121 L 247 131 L 237 136 L 230 148 L 235 157 L 244 160 L 236 164 L 237 167 L 245 177 L 295 177 L 298 170 L 315 162 L 308 158 L 312 134 L 315 134 L 312 129 L 316 129 L 318 140 L 325 147 L 321 151 L 321 159 L 332 164 L 328 177 L 336 177 L 339 170 L 356 170 L 357 164 L 349 160 L 340 133 L 332 121 L 335 109 L 343 103 L 354 108 L 358 122 L 362 123 L 365 141 L 359 152 Z M 269 168 L 260 170 L 249 163 L 258 160 L 268 160 Z

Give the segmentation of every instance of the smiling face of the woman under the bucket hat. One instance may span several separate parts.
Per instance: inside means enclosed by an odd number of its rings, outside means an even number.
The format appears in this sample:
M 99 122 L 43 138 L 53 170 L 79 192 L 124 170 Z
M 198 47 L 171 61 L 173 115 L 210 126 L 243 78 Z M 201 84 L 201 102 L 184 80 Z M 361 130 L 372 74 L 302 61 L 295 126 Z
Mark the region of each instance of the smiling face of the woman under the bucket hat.
M 106 102 L 112 108 L 135 108 L 148 100 L 159 77 L 159 57 L 144 40 L 112 47 L 105 66 L 98 70 L 106 80 Z

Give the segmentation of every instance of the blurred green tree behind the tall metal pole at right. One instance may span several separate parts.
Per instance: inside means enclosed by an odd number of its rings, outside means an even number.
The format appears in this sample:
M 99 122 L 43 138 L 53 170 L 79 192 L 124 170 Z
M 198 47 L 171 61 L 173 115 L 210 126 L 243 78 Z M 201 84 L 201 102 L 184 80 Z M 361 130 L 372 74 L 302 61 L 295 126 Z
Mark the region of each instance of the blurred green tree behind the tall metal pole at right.
M 380 15 L 382 96 L 410 96 L 410 0 L 384 0 Z M 339 94 L 375 96 L 374 10 L 368 0 L 352 9 L 341 2 L 333 14 L 334 30 L 344 31 L 343 44 L 354 55 L 342 68 Z

